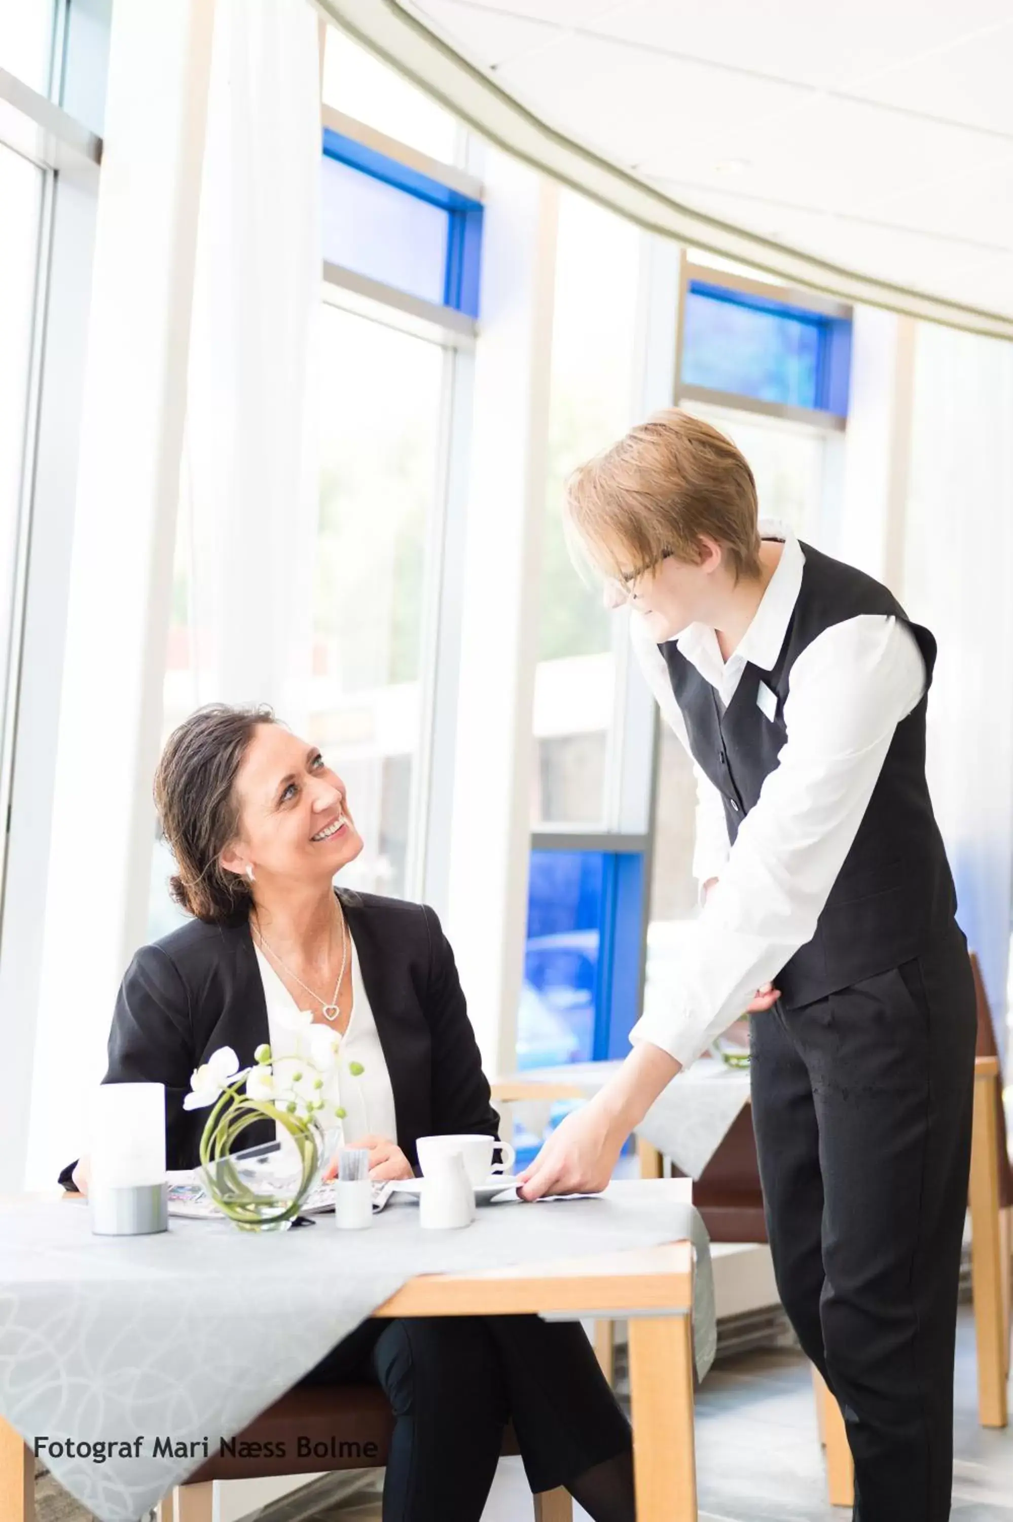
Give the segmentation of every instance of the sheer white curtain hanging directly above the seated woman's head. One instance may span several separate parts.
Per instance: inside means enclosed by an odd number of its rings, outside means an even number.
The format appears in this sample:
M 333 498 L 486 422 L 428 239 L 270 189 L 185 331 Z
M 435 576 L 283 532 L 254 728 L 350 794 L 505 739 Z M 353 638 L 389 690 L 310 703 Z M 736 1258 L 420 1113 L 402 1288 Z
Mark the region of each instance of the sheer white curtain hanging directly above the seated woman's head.
M 218 0 L 181 511 L 199 702 L 309 711 L 319 52 L 309 0 Z

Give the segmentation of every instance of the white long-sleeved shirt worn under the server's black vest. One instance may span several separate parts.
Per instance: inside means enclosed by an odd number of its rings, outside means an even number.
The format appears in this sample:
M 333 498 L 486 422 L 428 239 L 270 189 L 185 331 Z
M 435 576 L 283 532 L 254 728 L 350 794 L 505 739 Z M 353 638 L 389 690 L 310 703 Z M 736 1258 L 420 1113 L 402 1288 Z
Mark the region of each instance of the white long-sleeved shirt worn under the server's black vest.
M 802 586 L 805 556 L 795 536 L 773 521 L 759 528 L 764 539 L 782 539 L 783 549 L 738 648 L 722 661 L 706 624 L 691 624 L 677 638 L 724 705 L 747 661 L 765 671 L 776 664 Z M 630 638 L 662 715 L 689 750 L 668 667 L 636 612 Z M 721 794 L 694 763 L 694 877 L 718 883 L 686 941 L 671 1000 L 637 1020 L 631 1041 L 649 1041 L 688 1067 L 812 939 L 893 732 L 923 689 L 922 653 L 907 624 L 862 613 L 824 629 L 795 659 L 783 708 L 788 738 L 735 845 Z

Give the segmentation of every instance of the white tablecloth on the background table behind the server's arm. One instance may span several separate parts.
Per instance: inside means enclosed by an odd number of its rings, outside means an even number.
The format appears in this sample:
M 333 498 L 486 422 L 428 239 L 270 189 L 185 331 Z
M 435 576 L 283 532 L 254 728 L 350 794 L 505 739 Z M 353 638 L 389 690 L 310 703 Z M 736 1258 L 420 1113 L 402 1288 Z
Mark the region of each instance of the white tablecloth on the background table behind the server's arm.
M 595 1094 L 621 1067 L 621 1062 L 573 1062 L 561 1067 L 538 1067 L 519 1073 L 520 1079 L 575 1084 Z M 727 1067 L 701 1056 L 684 1073 L 678 1073 L 657 1096 L 636 1128 L 637 1137 L 649 1142 L 691 1178 L 700 1178 L 732 1128 L 732 1122 L 750 1102 L 748 1068 Z M 538 1102 L 516 1105 L 519 1119 L 538 1131 Z M 545 1108 L 545 1106 L 541 1106 Z

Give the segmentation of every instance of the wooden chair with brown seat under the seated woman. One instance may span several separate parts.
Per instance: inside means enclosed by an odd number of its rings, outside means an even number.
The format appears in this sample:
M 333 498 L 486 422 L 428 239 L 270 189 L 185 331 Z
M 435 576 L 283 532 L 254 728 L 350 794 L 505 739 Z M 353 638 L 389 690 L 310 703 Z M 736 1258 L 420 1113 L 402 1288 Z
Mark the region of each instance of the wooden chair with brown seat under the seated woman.
M 176 1485 L 160 1504 L 158 1522 L 211 1522 L 216 1479 L 377 1469 L 386 1464 L 392 1429 L 391 1408 L 374 1385 L 297 1385 L 236 1440 L 237 1444 L 262 1444 L 262 1454 L 274 1454 L 284 1444 L 284 1458 L 233 1458 L 228 1454 L 208 1458 L 186 1485 Z M 303 1457 L 300 1438 L 309 1443 Z M 502 1452 L 519 1452 L 513 1426 L 506 1428 Z M 567 1490 L 548 1490 L 532 1501 L 534 1522 L 572 1522 L 573 1502 Z M 8 1522 L 6 1513 L 3 1522 Z

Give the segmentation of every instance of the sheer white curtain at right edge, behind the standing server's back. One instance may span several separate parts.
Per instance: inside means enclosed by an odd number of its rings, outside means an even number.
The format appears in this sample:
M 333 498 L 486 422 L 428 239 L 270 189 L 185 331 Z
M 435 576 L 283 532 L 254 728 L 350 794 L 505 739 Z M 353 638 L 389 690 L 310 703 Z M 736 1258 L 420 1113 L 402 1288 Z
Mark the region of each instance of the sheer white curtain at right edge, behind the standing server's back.
M 928 776 L 1005 1018 L 1013 863 L 1013 344 L 919 324 L 903 603 L 938 641 Z M 1008 1044 L 1007 1044 L 1008 1049 Z

